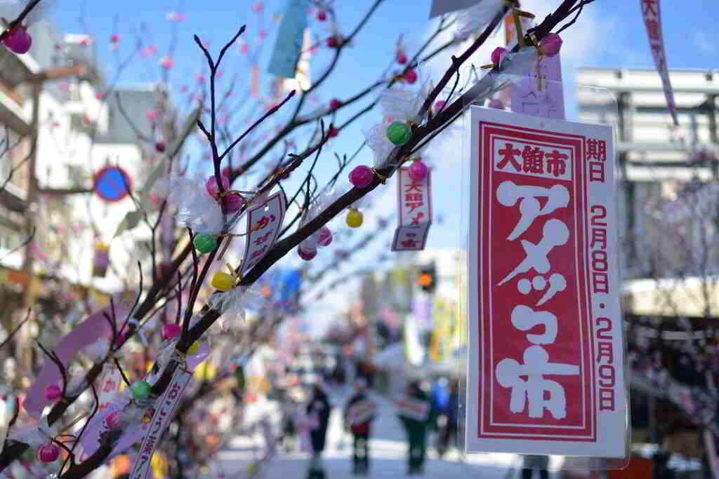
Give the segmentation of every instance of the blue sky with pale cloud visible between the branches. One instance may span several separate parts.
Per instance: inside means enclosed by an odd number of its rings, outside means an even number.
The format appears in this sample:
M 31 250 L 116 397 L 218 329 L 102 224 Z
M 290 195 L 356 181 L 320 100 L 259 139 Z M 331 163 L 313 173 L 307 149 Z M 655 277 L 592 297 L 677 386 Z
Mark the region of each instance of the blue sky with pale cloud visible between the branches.
M 49 17 L 58 24 L 60 31 L 93 34 L 96 38 L 96 51 L 108 73 L 114 71 L 118 58 L 123 58 L 131 47 L 131 39 L 137 38 L 142 29 L 142 39 L 146 46 L 157 45 L 157 55 L 149 59 L 137 58 L 123 71 L 122 83 L 155 81 L 160 78 L 161 68 L 157 59 L 165 55 L 173 42 L 175 29 L 176 52 L 175 65 L 170 72 L 170 84 L 178 93 L 183 85 L 192 87 L 196 76 L 203 70 L 203 59 L 194 45 L 192 35 L 198 34 L 204 41 L 210 42 L 210 50 L 216 55 L 222 43 L 232 37 L 241 24 L 247 24 L 245 36 L 251 45 L 264 44 L 260 55 L 261 83 L 269 78 L 265 73 L 267 57 L 274 44 L 274 32 L 277 23 L 273 21 L 279 14 L 285 1 L 266 1 L 262 14 L 252 11 L 255 1 L 226 0 L 124 0 L 122 2 L 61 0 L 50 9 Z M 435 22 L 430 22 L 429 0 L 386 0 L 370 19 L 367 27 L 348 48 L 340 60 L 333 78 L 319 90 L 313 101 L 317 105 L 326 105 L 331 98 L 345 98 L 369 83 L 392 63 L 394 45 L 403 34 L 408 52 L 421 45 Z M 523 8 L 532 11 L 538 19 L 543 19 L 559 0 L 522 1 Z M 664 19 L 664 41 L 670 68 L 713 69 L 719 67 L 719 42 L 714 39 L 714 30 L 719 19 L 719 4 L 710 0 L 664 0 L 662 16 Z M 336 0 L 339 31 L 348 32 L 358 22 L 360 15 L 371 4 L 370 0 Z M 168 22 L 168 11 L 181 11 L 186 14 L 184 22 Z M 320 23 L 310 19 L 312 32 L 324 39 L 329 36 L 329 22 Z M 267 31 L 267 38 L 257 43 L 260 30 Z M 111 49 L 109 42 L 112 33 L 119 33 L 123 39 L 118 50 L 119 56 Z M 652 67 L 649 45 L 644 24 L 641 22 L 638 0 L 597 0 L 585 7 L 577 23 L 562 33 L 564 47 L 562 62 L 564 77 L 570 78 L 574 68 L 582 65 L 601 67 Z M 472 59 L 477 65 L 487 62 L 489 52 L 499 45 L 499 37 L 493 39 Z M 316 78 L 324 70 L 329 58 L 325 48 L 321 48 L 313 57 L 311 75 Z M 421 78 L 431 76 L 439 78 L 442 68 L 449 65 L 449 54 L 437 58 L 431 65 L 421 68 Z M 393 65 L 393 68 L 398 65 Z M 249 81 L 249 62 L 239 48 L 233 47 L 226 57 L 225 71 L 229 77 L 237 73 L 242 81 Z M 180 98 L 180 95 L 175 98 Z M 239 105 L 242 105 L 240 98 Z M 312 103 L 312 102 L 310 102 Z M 340 121 L 349 118 L 352 108 L 339 115 Z M 332 153 L 351 154 L 362 144 L 362 129 L 380 121 L 377 111 L 368 113 L 364 118 L 334 139 L 321 159 L 319 179 L 328 177 L 333 171 Z M 454 141 L 454 144 L 452 144 Z M 462 134 L 457 131 L 449 147 L 430 151 L 435 166 L 434 203 L 436 215 L 444 218 L 443 224 L 435 224 L 431 229 L 428 247 L 456 248 L 461 242 L 459 214 L 462 204 L 460 189 L 462 177 L 461 151 Z M 326 162 L 326 163 L 323 163 Z M 365 149 L 357 158 L 357 164 L 371 164 L 370 150 Z M 346 180 L 341 180 L 346 183 Z M 288 190 L 292 190 L 296 180 L 290 179 Z M 394 182 L 390 182 L 384 192 L 378 192 L 381 210 L 389 213 L 393 208 Z M 437 218 L 435 218 L 437 220 Z M 344 218 L 334 220 L 335 231 L 342 229 Z M 367 227 L 372 227 L 372 215 L 367 215 Z M 375 241 L 365 254 L 346 266 L 344 273 L 352 267 L 362 266 L 374 261 L 378 252 L 387 248 L 387 241 L 393 228 L 388 228 L 381 241 Z M 345 244 L 357 241 L 357 234 Z M 337 241 L 328 250 L 339 248 Z M 346 247 L 346 246 L 345 246 Z M 313 261 L 315 267 L 321 266 L 332 258 L 331 252 L 321 250 Z M 291 261 L 298 261 L 293 258 Z

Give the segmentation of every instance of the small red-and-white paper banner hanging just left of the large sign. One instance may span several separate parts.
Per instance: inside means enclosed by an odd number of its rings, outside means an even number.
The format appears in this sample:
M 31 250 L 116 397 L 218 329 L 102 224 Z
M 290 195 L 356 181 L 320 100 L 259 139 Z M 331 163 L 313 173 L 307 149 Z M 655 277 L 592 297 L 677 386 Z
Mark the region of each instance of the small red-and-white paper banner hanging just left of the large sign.
M 432 223 L 431 171 L 424 180 L 414 181 L 409 168 L 398 170 L 397 211 L 398 226 L 392 251 L 416 251 L 424 249 L 427 233 Z

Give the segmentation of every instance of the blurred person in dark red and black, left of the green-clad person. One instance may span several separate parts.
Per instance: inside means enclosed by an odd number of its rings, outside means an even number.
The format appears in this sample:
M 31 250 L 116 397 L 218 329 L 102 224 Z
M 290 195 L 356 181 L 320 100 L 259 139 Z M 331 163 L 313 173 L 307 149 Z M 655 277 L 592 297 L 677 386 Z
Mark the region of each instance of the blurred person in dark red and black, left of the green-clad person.
M 352 397 L 344 407 L 344 424 L 352 432 L 352 474 L 367 475 L 370 470 L 370 425 L 375 404 L 367 394 L 365 378 L 357 379 Z

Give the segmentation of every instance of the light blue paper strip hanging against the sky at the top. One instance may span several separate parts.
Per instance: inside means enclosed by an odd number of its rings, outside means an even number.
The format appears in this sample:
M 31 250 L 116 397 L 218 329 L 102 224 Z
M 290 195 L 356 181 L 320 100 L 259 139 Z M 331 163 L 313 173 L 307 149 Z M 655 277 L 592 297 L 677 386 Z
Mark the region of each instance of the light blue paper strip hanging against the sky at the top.
M 303 32 L 307 28 L 307 0 L 289 0 L 275 40 L 275 50 L 267 72 L 284 78 L 295 78 L 302 51 Z

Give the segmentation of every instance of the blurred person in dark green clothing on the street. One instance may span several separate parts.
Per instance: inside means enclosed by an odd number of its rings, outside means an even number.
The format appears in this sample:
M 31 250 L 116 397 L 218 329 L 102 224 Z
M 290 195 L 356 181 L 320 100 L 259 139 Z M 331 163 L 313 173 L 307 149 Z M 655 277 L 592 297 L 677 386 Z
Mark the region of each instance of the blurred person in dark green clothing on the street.
M 407 433 L 407 473 L 422 474 L 427 450 L 427 429 L 434 422 L 434 408 L 429 396 L 416 381 L 408 384 L 405 394 L 406 397 L 398 401 L 398 416 Z

